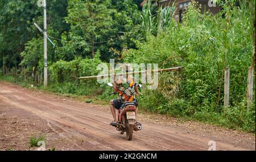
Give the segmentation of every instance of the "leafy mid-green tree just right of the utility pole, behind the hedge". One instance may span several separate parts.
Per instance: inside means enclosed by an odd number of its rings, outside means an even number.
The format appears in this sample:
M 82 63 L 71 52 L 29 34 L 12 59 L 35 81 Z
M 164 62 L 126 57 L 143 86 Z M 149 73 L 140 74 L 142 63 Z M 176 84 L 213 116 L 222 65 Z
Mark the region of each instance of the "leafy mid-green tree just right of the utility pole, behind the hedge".
M 68 16 L 66 22 L 71 25 L 68 39 L 75 48 L 74 52 L 80 56 L 94 57 L 96 44 L 104 41 L 102 37 L 109 35 L 112 30 L 113 10 L 108 9 L 110 1 L 82 1 L 68 2 Z M 63 51 L 62 51 L 63 52 Z

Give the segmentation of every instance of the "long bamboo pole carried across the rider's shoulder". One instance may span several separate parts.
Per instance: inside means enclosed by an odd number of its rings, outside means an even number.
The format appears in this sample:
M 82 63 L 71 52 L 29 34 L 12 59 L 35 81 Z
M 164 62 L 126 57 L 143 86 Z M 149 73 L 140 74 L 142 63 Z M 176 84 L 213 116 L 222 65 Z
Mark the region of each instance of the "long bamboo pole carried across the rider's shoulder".
M 110 77 L 113 75 L 127 75 L 127 74 L 139 74 L 139 73 L 149 73 L 149 72 L 163 72 L 163 71 L 176 71 L 176 70 L 180 70 L 183 69 L 184 66 L 180 66 L 180 67 L 172 67 L 172 68 L 167 68 L 167 69 L 158 69 L 158 70 L 144 70 L 144 71 L 133 71 L 133 72 L 129 72 L 129 73 L 118 73 L 118 74 L 106 74 L 106 75 L 96 75 L 96 76 L 81 76 L 79 79 L 84 79 L 84 80 L 88 80 L 88 79 L 97 79 L 97 78 L 102 78 L 102 77 Z

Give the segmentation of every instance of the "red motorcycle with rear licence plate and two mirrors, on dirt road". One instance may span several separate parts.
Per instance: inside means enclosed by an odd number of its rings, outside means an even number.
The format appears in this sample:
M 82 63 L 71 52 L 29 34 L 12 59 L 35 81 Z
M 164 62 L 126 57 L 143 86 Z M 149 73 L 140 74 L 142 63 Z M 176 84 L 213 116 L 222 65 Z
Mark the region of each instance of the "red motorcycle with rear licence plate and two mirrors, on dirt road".
M 113 87 L 112 83 L 108 83 L 108 86 Z M 141 88 L 141 84 L 137 84 L 138 88 Z M 110 95 L 116 93 L 109 93 Z M 133 131 L 139 131 L 142 129 L 141 123 L 136 121 L 135 112 L 137 107 L 133 101 L 126 101 L 118 109 L 118 122 L 114 127 L 117 128 L 117 131 L 120 131 L 120 134 L 126 132 L 126 138 L 131 140 L 133 138 Z

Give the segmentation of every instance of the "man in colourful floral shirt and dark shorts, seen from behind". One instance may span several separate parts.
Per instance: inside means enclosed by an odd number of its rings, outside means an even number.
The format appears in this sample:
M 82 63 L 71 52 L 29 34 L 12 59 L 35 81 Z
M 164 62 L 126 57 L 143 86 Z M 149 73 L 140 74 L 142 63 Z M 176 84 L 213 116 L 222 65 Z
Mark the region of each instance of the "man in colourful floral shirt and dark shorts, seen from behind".
M 130 72 L 131 70 L 126 70 L 126 73 Z M 135 116 L 137 116 L 138 110 L 138 101 L 135 99 L 135 95 L 139 94 L 137 84 L 135 83 L 135 79 L 126 74 L 126 76 L 118 76 L 117 82 L 115 81 L 113 84 L 114 93 L 118 93 L 118 98 L 110 101 L 110 110 L 112 112 L 114 121 L 110 122 L 110 125 L 115 126 L 117 124 L 117 116 L 115 109 L 120 109 L 121 105 L 125 102 L 134 102 L 135 106 L 137 107 Z M 127 96 L 126 93 L 123 91 L 128 92 L 130 95 Z

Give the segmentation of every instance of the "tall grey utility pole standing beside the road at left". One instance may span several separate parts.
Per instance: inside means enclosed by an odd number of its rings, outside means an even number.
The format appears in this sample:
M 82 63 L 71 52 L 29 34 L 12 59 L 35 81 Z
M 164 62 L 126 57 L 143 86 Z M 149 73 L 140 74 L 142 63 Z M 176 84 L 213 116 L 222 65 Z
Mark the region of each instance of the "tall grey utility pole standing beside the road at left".
M 46 17 L 46 0 L 43 0 L 44 7 L 44 87 L 47 87 L 47 17 Z

